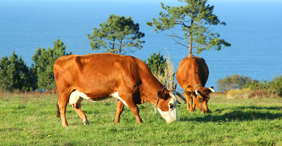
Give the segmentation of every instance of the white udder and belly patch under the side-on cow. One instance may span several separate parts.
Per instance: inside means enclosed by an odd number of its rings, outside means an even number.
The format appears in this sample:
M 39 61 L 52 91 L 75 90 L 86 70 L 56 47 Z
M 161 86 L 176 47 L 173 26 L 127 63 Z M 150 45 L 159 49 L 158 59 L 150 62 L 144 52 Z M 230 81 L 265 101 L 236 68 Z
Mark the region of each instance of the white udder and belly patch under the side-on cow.
M 89 100 L 92 100 L 93 102 L 96 102 L 96 101 L 101 101 L 101 100 L 105 100 L 105 99 L 112 98 L 112 97 L 121 100 L 127 106 L 126 102 L 118 96 L 118 92 L 114 92 L 113 94 L 109 95 L 108 97 L 99 97 L 96 99 L 90 99 L 90 97 L 88 97 L 87 95 L 85 95 L 82 92 L 79 92 L 78 90 L 70 94 L 69 104 L 72 106 L 72 108 L 80 108 L 81 101 L 83 99 L 89 99 Z

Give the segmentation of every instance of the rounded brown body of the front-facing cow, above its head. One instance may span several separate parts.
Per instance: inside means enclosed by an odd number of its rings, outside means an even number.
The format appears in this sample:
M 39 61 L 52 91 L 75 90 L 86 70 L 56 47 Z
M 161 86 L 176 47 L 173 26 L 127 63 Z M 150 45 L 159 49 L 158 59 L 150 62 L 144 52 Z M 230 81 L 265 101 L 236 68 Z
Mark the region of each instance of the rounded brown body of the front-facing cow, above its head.
M 184 87 L 185 85 L 193 85 L 193 82 L 201 83 L 205 86 L 208 76 L 209 70 L 206 61 L 194 55 L 184 58 L 180 62 L 176 73 L 177 82 L 184 89 L 186 88 Z M 190 88 L 191 91 L 193 87 L 188 88 Z

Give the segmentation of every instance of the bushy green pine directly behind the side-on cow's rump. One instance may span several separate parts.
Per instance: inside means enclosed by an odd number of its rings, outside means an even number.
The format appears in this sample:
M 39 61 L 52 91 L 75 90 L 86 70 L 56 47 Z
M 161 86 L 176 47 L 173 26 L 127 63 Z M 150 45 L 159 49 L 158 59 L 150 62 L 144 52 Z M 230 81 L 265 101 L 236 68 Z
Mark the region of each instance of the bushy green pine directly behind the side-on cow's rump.
M 53 49 L 49 48 L 40 48 L 36 50 L 36 54 L 32 56 L 32 60 L 35 64 L 36 75 L 38 76 L 38 90 L 50 91 L 56 87 L 56 82 L 54 78 L 53 66 L 55 61 L 64 55 L 70 55 L 66 53 L 66 46 L 60 39 L 57 39 L 57 42 L 53 42 Z

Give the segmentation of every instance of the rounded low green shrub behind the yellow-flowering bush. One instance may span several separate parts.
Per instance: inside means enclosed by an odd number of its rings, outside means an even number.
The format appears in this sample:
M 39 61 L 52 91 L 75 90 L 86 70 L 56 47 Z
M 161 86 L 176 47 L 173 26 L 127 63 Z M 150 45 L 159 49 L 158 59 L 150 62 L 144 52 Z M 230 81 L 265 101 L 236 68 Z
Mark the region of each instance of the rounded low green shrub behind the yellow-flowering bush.
M 230 76 L 226 75 L 223 79 L 218 79 L 216 81 L 216 86 L 219 91 L 228 91 L 244 88 L 245 83 L 251 82 L 252 78 L 240 76 L 239 74 L 231 74 Z

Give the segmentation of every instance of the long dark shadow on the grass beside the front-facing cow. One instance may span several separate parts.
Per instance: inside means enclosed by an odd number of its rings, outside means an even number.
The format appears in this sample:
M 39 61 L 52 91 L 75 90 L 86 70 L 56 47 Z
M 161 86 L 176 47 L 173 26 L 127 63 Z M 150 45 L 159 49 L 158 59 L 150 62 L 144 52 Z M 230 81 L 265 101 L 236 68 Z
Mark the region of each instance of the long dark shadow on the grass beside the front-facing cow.
M 199 109 L 198 109 L 199 110 Z M 228 112 L 226 112 L 228 111 Z M 240 106 L 232 108 L 216 109 L 210 113 L 190 113 L 183 114 L 180 121 L 196 122 L 229 122 L 229 121 L 252 121 L 252 120 L 273 120 L 282 117 L 280 107 L 259 107 L 259 106 Z M 217 114 L 218 113 L 218 114 Z

